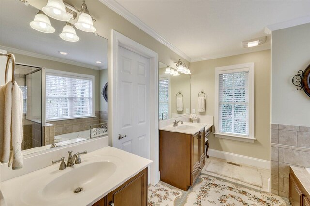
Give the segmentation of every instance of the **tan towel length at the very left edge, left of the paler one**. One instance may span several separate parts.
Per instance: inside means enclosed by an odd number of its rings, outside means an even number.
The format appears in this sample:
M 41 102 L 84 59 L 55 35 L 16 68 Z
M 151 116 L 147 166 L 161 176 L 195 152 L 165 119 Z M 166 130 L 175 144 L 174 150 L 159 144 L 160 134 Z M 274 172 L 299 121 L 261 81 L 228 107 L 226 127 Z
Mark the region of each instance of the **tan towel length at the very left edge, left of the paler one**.
M 11 143 L 12 82 L 0 87 L 0 162 L 9 162 Z

